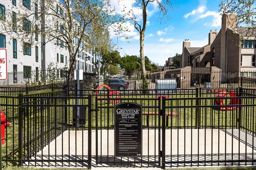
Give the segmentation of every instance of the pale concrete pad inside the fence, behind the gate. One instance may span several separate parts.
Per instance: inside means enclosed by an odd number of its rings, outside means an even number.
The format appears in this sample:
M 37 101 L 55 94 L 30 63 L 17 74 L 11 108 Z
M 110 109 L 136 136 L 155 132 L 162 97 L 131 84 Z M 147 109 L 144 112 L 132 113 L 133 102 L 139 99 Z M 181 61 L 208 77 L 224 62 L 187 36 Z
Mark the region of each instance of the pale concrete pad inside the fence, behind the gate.
M 162 137 L 162 131 L 161 131 Z M 250 133 L 238 129 L 168 129 L 166 130 L 166 161 L 208 161 L 211 160 L 238 160 L 256 158 L 255 137 Z M 240 139 L 239 139 L 240 137 Z M 36 166 L 41 167 L 87 167 L 87 130 L 67 130 L 39 151 L 31 162 L 25 165 L 34 166 L 33 160 L 39 161 Z M 143 130 L 143 158 L 116 158 L 114 157 L 114 130 L 98 130 L 98 160 L 102 164 L 96 165 L 96 130 L 92 131 L 92 166 L 127 166 L 155 167 L 158 161 L 158 130 Z M 160 144 L 162 150 L 162 143 Z M 49 160 L 41 162 L 40 160 Z M 106 161 L 115 161 L 106 164 Z M 122 161 L 122 164 L 121 164 Z M 139 163 L 138 161 L 152 161 L 152 163 Z M 137 163 L 138 162 L 138 163 Z M 175 163 L 176 162 L 176 163 Z M 230 163 L 231 164 L 231 163 Z M 180 164 L 179 164 L 180 165 Z M 204 165 L 191 164 L 192 166 Z M 215 164 L 216 165 L 216 164 Z M 218 164 L 217 164 L 218 165 Z M 170 166 L 170 164 L 166 164 Z M 188 163 L 184 166 L 190 166 Z

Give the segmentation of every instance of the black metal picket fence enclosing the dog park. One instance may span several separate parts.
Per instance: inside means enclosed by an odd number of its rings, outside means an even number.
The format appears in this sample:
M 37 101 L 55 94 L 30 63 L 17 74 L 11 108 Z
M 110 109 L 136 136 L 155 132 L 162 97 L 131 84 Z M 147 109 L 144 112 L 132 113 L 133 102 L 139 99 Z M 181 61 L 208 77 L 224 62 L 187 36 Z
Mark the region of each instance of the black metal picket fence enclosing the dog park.
M 254 89 L 77 92 L 1 97 L 11 122 L 2 167 L 254 165 Z M 141 157 L 113 154 L 114 107 L 123 102 L 142 105 Z

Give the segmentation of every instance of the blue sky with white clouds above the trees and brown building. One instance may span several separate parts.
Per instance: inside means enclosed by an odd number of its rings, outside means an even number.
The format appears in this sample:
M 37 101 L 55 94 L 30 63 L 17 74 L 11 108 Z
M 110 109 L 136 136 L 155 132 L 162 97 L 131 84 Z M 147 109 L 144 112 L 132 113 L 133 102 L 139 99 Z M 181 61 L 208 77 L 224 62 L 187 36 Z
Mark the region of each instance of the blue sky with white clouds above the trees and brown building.
M 156 4 L 151 4 L 148 8 L 148 22 L 145 31 L 144 54 L 159 65 L 164 65 L 168 57 L 173 57 L 176 53 L 182 53 L 182 42 L 189 39 L 191 47 L 202 47 L 208 43 L 208 33 L 210 30 L 219 31 L 221 28 L 221 16 L 218 12 L 220 0 L 174 0 L 175 7 L 169 11 L 169 19 L 165 22 L 159 21 L 159 11 Z M 121 13 L 123 6 L 127 10 L 133 8 L 137 15 L 138 22 L 141 22 L 141 10 L 134 8 L 133 0 L 111 0 L 116 12 Z M 117 5 L 118 4 L 118 5 Z M 121 57 L 125 54 L 139 55 L 140 41 L 139 33 L 134 29 L 132 23 L 125 24 L 130 32 L 125 34 L 130 36 L 128 42 L 112 34 L 113 42 L 119 48 Z

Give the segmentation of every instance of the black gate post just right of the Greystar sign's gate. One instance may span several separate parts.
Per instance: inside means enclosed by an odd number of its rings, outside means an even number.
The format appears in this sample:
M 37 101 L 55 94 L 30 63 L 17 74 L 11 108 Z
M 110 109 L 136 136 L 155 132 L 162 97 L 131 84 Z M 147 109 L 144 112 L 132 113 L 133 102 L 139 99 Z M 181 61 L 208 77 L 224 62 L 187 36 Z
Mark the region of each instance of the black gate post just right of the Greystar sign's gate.
M 165 169 L 165 113 L 166 112 L 166 97 L 162 97 L 162 169 Z

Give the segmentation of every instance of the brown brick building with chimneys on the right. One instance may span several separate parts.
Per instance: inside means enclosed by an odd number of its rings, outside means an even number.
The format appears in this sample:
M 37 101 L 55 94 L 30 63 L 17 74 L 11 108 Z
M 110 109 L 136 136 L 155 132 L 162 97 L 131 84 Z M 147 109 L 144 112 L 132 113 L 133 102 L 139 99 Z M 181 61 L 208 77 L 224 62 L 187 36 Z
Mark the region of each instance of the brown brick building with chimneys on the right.
M 237 27 L 236 14 L 223 14 L 221 30 L 210 31 L 207 45 L 191 47 L 189 40 L 183 41 L 181 66 L 215 66 L 222 71 L 253 73 L 256 71 L 256 39 L 255 33 L 248 34 L 247 30 L 250 28 Z

